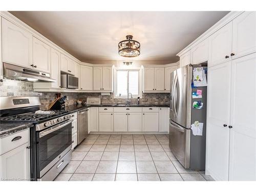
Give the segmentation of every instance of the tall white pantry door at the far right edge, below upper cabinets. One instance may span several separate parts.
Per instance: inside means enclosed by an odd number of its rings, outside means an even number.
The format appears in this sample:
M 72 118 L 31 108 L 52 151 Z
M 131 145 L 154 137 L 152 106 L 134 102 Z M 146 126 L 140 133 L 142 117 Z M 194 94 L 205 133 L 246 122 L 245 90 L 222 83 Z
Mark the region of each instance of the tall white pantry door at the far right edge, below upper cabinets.
M 256 53 L 232 60 L 229 180 L 256 180 Z

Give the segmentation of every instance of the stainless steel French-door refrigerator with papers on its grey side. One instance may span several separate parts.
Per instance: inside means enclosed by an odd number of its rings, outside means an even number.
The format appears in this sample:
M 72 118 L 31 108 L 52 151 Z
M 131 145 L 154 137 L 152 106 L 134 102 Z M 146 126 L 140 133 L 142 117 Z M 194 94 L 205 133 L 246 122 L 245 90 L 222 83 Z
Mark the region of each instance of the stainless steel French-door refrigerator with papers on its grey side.
M 203 68 L 207 72 L 207 67 Z M 192 66 L 182 67 L 170 74 L 169 146 L 185 168 L 204 170 L 207 87 L 192 88 L 192 82 Z M 197 90 L 202 91 L 202 98 L 192 98 L 192 93 Z M 193 108 L 194 101 L 201 101 L 203 108 Z M 191 124 L 195 121 L 203 123 L 202 136 L 192 134 Z

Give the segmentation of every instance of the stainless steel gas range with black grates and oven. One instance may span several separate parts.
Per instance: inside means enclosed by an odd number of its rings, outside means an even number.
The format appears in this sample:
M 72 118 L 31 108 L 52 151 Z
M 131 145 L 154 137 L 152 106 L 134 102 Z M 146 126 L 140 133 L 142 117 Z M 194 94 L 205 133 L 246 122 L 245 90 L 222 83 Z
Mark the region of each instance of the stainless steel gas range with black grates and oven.
M 0 97 L 0 121 L 32 122 L 30 170 L 32 181 L 52 181 L 72 157 L 72 119 L 67 111 L 36 115 L 38 97 Z

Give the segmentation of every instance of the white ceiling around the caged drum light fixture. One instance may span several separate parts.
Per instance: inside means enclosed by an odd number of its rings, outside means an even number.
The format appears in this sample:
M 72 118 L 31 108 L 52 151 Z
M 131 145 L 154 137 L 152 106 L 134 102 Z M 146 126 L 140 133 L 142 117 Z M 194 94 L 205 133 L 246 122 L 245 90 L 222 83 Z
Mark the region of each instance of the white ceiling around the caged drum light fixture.
M 117 45 L 131 34 L 141 43 L 141 54 L 133 60 L 176 62 L 179 51 L 228 11 L 10 13 L 81 61 L 124 60 Z

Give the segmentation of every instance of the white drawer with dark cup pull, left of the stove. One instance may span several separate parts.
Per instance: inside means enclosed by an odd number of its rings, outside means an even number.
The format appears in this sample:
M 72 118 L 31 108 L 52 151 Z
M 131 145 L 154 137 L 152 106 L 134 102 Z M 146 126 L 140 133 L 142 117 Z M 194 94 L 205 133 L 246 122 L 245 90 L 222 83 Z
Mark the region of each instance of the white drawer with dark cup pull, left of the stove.
M 13 140 L 15 138 L 17 140 Z M 23 145 L 27 142 L 29 142 L 29 129 L 4 137 L 0 139 L 0 155 L 9 152 L 14 148 Z

